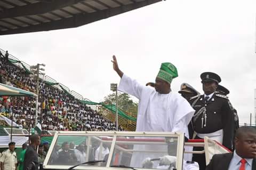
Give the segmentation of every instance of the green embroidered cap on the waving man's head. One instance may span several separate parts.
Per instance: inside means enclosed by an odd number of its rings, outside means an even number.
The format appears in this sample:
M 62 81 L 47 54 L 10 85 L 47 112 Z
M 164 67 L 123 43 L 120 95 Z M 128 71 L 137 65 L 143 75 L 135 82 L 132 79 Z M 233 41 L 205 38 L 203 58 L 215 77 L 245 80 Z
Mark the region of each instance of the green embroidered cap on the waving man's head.
M 170 62 L 164 62 L 161 64 L 160 71 L 158 72 L 157 78 L 165 80 L 166 82 L 172 82 L 173 78 L 178 77 L 177 68 Z

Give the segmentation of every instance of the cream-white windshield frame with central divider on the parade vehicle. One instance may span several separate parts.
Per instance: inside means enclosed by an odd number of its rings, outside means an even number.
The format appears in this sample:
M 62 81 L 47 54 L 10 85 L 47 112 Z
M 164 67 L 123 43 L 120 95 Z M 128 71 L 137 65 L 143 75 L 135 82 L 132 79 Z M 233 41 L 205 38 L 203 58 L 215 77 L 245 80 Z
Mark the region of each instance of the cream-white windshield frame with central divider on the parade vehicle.
M 172 133 L 172 132 L 92 132 L 92 131 L 59 131 L 56 132 L 52 144 L 50 145 L 49 151 L 45 157 L 43 167 L 44 169 L 68 169 L 69 165 L 47 165 L 51 153 L 54 149 L 54 145 L 58 140 L 59 136 L 113 136 L 113 140 L 111 141 L 111 147 L 109 150 L 109 158 L 107 160 L 106 166 L 100 167 L 100 166 L 77 166 L 74 169 L 97 169 L 97 170 L 103 170 L 103 169 L 127 169 L 127 168 L 117 168 L 117 167 L 110 167 L 110 162 L 114 153 L 115 143 L 116 143 L 116 137 L 117 136 L 151 136 L 151 137 L 177 137 L 178 143 L 177 143 L 177 170 L 182 170 L 182 164 L 183 164 L 183 148 L 184 148 L 184 133 Z M 74 166 L 74 165 L 72 165 Z M 136 168 L 136 169 L 146 169 L 146 168 Z

